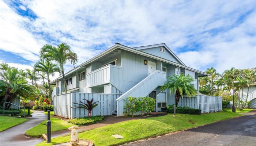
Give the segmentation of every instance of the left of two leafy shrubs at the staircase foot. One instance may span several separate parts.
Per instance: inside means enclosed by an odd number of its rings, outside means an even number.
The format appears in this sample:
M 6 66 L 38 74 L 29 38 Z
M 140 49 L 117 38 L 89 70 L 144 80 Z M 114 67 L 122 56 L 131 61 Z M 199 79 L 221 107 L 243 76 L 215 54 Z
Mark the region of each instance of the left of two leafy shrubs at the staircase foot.
M 135 97 L 128 96 L 128 98 L 125 99 L 125 101 L 126 103 L 124 105 L 124 108 L 125 108 L 124 114 L 125 115 L 131 114 L 131 116 L 133 117 L 134 114 L 139 111 L 139 106 L 138 106 L 139 100 L 137 100 Z

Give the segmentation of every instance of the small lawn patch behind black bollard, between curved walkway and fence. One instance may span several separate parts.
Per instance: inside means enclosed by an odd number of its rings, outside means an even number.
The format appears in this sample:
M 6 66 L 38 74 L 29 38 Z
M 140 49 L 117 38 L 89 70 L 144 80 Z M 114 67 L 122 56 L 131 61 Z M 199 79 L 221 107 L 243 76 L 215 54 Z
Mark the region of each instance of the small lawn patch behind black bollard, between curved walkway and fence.
M 67 121 L 58 118 L 50 117 L 50 120 L 52 122 L 51 132 L 64 130 L 71 126 L 74 126 L 74 124 L 68 123 Z M 27 130 L 25 134 L 28 137 L 42 137 L 42 134 L 46 134 L 46 121 L 47 119 L 38 124 L 37 126 Z

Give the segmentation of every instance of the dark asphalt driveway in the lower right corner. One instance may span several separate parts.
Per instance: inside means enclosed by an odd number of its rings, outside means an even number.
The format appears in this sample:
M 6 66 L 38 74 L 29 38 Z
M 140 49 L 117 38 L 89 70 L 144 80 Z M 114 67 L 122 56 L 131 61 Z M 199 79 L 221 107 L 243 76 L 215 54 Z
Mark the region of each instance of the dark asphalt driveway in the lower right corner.
M 125 146 L 256 146 L 256 110 L 229 119 Z

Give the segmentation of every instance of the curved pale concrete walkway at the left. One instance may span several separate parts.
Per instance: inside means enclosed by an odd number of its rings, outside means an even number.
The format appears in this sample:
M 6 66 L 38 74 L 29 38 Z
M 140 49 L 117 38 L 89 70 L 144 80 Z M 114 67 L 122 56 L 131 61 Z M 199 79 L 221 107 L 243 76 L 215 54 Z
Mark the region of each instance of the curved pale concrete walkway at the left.
M 44 141 L 42 138 L 29 138 L 25 135 L 25 131 L 41 123 L 47 119 L 43 111 L 34 111 L 32 117 L 26 122 L 15 127 L 9 128 L 0 132 L 1 146 L 34 146 L 39 142 Z

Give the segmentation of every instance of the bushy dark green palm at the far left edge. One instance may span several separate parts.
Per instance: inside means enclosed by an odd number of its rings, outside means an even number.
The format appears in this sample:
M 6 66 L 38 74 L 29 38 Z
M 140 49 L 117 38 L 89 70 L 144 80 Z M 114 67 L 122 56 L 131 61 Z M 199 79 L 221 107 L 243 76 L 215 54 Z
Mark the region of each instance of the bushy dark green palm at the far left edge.
M 19 74 L 17 68 L 7 68 L 0 72 L 0 89 L 5 89 L 5 102 L 13 103 L 17 96 L 30 97 L 33 93 L 33 86 L 28 85 L 24 76 Z M 7 109 L 10 104 L 6 106 Z

